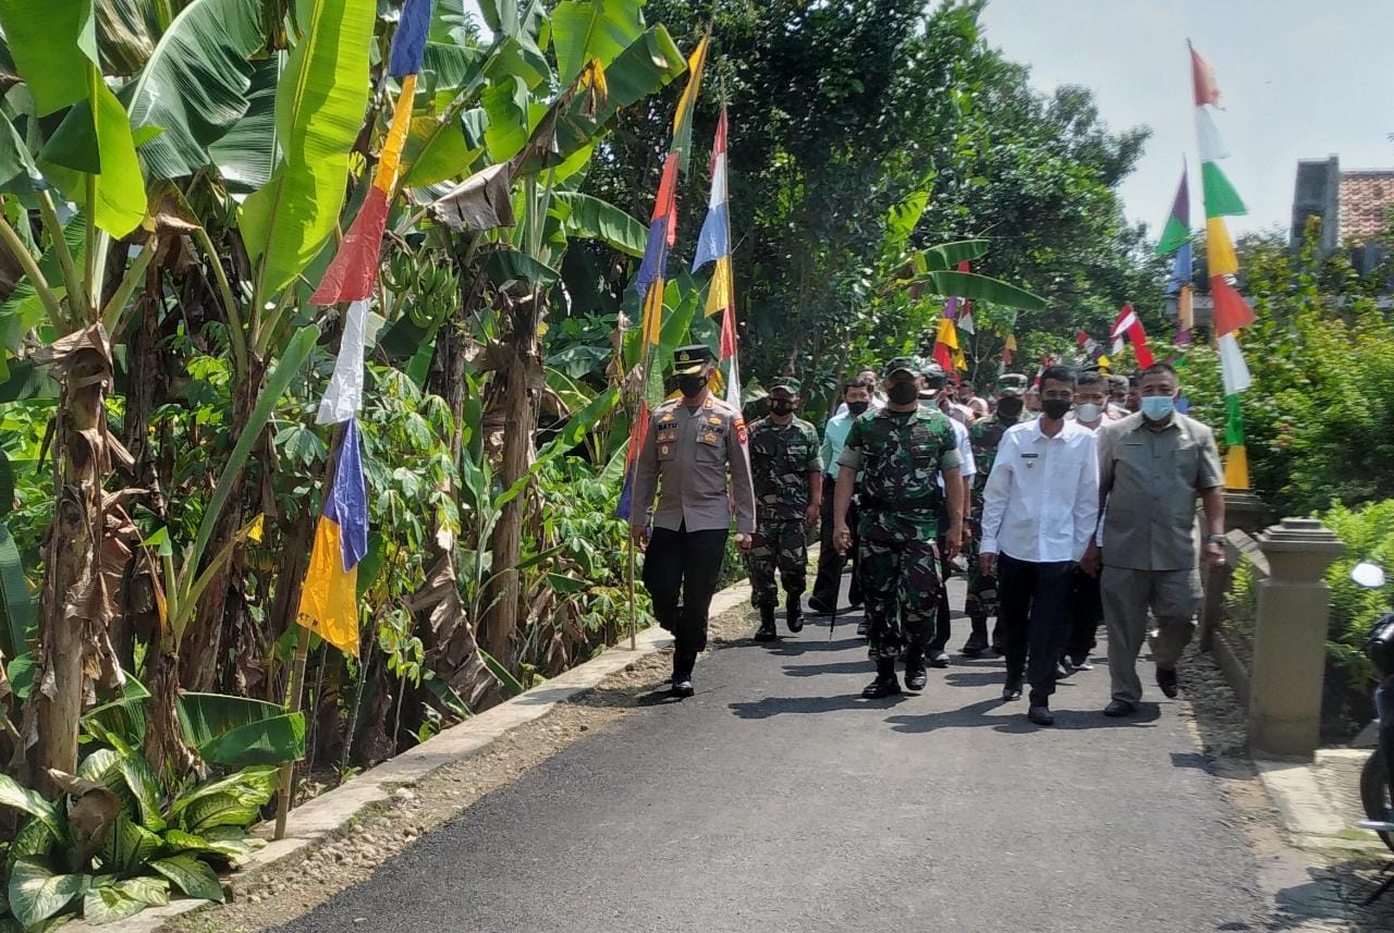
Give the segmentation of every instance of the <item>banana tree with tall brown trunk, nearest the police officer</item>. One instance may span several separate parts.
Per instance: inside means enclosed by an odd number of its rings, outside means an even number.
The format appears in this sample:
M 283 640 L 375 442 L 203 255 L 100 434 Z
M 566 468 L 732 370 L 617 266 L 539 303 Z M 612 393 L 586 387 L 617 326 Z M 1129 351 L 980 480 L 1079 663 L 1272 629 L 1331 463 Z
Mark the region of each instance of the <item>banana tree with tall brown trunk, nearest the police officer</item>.
M 684 71 L 668 32 L 644 25 L 637 0 L 567 0 L 549 21 L 539 10 L 533 3 L 512 17 L 492 11 L 491 25 L 496 22 L 503 43 L 533 50 L 549 35 L 552 57 L 530 57 L 544 78 L 535 89 L 514 74 L 482 88 L 464 117 L 467 125 L 474 117 L 485 127 L 489 162 L 431 205 L 434 216 L 464 234 L 460 255 L 477 266 L 485 285 L 473 298 L 488 301 L 500 322 L 484 423 L 500 434 L 498 476 L 505 489 L 524 480 L 535 462 L 533 434 L 545 384 L 541 330 L 548 305 L 562 294 L 558 265 L 567 240 L 604 240 L 629 255 L 643 251 L 643 227 L 581 194 L 579 181 L 618 110 Z M 553 86 L 565 89 L 544 96 Z M 523 613 L 516 568 L 527 501 L 506 501 L 491 532 L 496 571 L 484 597 L 482 645 L 505 663 Z

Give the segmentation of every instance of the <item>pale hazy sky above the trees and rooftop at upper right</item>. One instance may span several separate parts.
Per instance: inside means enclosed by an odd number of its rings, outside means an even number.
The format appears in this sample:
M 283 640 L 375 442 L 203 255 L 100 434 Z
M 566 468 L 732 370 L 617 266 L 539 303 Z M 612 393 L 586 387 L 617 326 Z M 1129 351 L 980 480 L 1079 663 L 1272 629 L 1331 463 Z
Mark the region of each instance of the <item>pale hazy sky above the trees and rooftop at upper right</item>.
M 1288 227 L 1298 159 L 1394 167 L 1394 0 L 990 0 L 984 25 L 1039 89 L 1085 85 L 1111 125 L 1151 127 L 1122 194 L 1154 231 L 1182 153 L 1195 170 L 1188 38 L 1216 68 L 1223 167 L 1249 206 L 1232 231 Z

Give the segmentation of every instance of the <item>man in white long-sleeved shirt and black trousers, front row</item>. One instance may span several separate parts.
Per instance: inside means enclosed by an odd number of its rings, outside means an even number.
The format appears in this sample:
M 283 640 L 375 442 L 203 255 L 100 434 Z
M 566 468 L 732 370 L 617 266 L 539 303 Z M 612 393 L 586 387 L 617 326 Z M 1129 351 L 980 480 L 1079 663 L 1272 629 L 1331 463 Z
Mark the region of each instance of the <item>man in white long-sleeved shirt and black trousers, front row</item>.
M 983 490 L 984 575 L 997 574 L 998 621 L 1006 646 L 1002 699 L 1030 682 L 1029 719 L 1052 726 L 1050 696 L 1069 625 L 1071 571 L 1085 556 L 1098 524 L 1098 461 L 1094 433 L 1065 421 L 1075 372 L 1041 373 L 1040 418 L 1002 436 Z

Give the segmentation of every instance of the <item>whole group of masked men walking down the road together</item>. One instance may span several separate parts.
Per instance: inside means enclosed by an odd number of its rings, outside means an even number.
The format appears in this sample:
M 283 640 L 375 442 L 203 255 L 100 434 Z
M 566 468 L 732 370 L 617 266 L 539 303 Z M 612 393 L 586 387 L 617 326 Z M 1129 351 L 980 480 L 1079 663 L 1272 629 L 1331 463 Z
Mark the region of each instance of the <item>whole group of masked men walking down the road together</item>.
M 1136 712 L 1149 631 L 1157 687 L 1177 696 L 1200 567 L 1223 561 L 1224 478 L 1210 429 L 1177 409 L 1170 365 L 1132 379 L 1048 366 L 1034 384 L 1008 373 L 984 398 L 937 363 L 898 356 L 842 386 L 821 439 L 797 415 L 796 379 L 772 382 L 769 414 L 747 428 L 711 394 L 705 347 L 680 348 L 675 370 L 682 397 L 652 414 L 630 519 L 654 613 L 675 635 L 675 695 L 694 692 L 732 522 L 757 641 L 778 638 L 781 585 L 785 624 L 803 629 L 806 544 L 821 522 L 809 610 L 836 611 L 850 560 L 849 600 L 864 609 L 859 634 L 875 666 L 867 699 L 902 692 L 898 667 L 905 689 L 921 691 L 927 668 L 949 666 L 944 581 L 959 557 L 962 653 L 1004 657 L 1002 700 L 1027 691 L 1033 723 L 1054 723 L 1058 680 L 1092 668 L 1101 624 L 1105 716 Z

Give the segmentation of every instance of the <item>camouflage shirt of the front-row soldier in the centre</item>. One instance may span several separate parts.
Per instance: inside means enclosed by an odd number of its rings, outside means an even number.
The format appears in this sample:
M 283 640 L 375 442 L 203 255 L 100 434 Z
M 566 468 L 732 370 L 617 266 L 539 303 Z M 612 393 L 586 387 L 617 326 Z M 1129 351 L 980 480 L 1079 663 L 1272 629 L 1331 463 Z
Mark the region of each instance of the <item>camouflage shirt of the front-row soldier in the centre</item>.
M 861 471 L 857 503 L 863 535 L 933 536 L 941 494 L 935 478 L 959 466 L 958 439 L 938 411 L 882 408 L 852 422 L 838 462 Z

